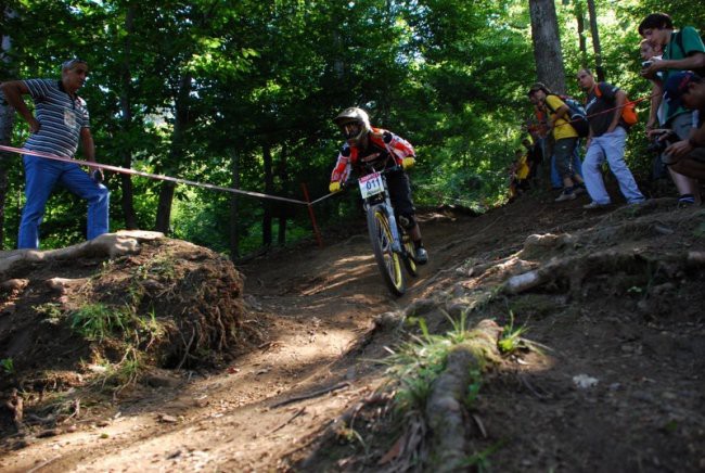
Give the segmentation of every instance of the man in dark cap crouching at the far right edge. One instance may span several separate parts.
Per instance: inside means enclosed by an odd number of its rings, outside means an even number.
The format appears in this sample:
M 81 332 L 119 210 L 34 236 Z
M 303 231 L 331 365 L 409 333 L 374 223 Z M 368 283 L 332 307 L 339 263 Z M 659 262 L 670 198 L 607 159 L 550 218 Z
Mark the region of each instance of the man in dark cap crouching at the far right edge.
M 672 74 L 664 90 L 664 100 L 669 106 L 698 111 L 700 123 L 688 139 L 666 148 L 663 161 L 683 176 L 705 179 L 705 79 L 690 71 Z M 667 137 L 661 139 L 666 140 Z

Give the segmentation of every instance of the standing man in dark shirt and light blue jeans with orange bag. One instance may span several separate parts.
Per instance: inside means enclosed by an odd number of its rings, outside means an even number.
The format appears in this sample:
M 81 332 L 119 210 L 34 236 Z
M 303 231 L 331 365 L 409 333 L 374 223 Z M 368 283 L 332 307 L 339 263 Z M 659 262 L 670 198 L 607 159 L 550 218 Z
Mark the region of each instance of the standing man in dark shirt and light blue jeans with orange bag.
M 628 127 L 621 119 L 621 111 L 627 101 L 626 93 L 611 84 L 597 82 L 587 68 L 578 72 L 578 82 L 587 93 L 585 110 L 590 123 L 582 176 L 592 202 L 585 208 L 598 208 L 611 203 L 602 179 L 602 163 L 605 159 L 627 202 L 643 202 L 644 196 L 624 157 Z

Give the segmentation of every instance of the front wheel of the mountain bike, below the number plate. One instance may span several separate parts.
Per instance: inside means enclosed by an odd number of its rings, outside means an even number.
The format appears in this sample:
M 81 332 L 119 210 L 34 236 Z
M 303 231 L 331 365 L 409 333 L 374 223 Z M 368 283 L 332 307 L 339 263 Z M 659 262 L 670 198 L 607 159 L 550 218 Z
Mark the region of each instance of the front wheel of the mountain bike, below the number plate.
M 389 219 L 382 207 L 371 207 L 368 210 L 368 231 L 372 242 L 374 259 L 385 284 L 396 295 L 402 295 L 407 284 L 401 271 L 401 257 L 392 250 L 392 229 Z

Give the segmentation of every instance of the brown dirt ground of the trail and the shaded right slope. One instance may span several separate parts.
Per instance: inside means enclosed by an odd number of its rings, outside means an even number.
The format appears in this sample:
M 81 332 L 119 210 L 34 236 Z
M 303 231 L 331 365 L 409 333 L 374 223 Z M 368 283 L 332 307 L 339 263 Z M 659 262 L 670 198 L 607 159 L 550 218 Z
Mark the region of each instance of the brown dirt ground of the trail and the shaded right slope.
M 459 307 L 471 322 L 523 327 L 541 347 L 485 373 L 465 414 L 475 464 L 704 471 L 705 209 L 675 199 L 626 206 L 614 193 L 619 204 L 586 210 L 586 196 L 553 197 L 530 192 L 482 216 L 421 213 L 431 260 L 400 298 L 382 282 L 362 220 L 324 235 L 322 248 L 239 266 L 243 323 L 258 333 L 251 349 L 208 370 L 162 370 L 113 396 L 72 386 L 86 396 L 80 412 L 22 435 L 5 412 L 0 471 L 392 471 L 399 427 L 360 408 L 388 384 L 380 361 L 411 331 L 384 320 L 420 316 L 443 333 L 443 312 Z M 499 291 L 541 267 L 533 286 Z M 26 401 L 25 419 L 41 402 Z M 356 406 L 351 434 L 326 437 Z

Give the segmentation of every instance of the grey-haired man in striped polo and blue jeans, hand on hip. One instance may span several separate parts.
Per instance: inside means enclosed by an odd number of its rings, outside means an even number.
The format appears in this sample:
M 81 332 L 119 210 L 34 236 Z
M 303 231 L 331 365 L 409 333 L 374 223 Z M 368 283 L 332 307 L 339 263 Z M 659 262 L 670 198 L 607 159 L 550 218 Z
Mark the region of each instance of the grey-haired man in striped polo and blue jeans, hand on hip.
M 76 91 L 86 82 L 88 65 L 74 59 L 62 64 L 61 80 L 27 79 L 3 82 L 5 100 L 29 124 L 25 150 L 73 158 L 80 141 L 87 161 L 95 161 L 86 102 Z M 22 95 L 30 95 L 33 115 Z M 88 239 L 108 231 L 110 192 L 101 183 L 100 169 L 91 175 L 77 164 L 23 155 L 26 203 L 20 223 L 18 248 L 39 247 L 39 225 L 47 200 L 56 183 L 88 201 Z

